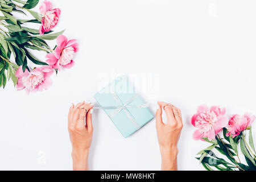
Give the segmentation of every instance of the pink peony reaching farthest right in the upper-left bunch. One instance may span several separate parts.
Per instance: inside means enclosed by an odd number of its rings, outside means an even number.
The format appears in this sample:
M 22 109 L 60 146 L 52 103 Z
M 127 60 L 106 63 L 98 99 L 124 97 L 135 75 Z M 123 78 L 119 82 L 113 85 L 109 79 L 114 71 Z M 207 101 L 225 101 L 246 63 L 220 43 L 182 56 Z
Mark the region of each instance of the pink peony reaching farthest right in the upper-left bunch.
M 76 39 L 69 40 L 64 35 L 57 38 L 55 53 L 48 53 L 46 62 L 54 69 L 71 68 L 75 64 L 73 58 L 78 51 Z

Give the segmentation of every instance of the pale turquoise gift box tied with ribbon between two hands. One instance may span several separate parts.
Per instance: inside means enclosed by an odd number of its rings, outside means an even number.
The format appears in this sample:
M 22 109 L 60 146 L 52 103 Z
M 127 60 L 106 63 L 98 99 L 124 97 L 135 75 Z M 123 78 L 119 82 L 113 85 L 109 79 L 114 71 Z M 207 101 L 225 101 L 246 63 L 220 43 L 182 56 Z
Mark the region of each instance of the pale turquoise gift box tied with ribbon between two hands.
M 116 78 L 94 98 L 125 138 L 154 118 L 126 76 Z

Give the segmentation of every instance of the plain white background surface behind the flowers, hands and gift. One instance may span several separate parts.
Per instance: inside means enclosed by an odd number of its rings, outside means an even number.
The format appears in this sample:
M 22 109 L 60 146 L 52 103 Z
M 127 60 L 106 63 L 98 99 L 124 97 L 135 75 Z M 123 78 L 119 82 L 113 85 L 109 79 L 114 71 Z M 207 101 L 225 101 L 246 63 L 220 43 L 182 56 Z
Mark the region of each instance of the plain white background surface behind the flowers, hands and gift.
M 64 35 L 79 41 L 76 65 L 52 76 L 46 92 L 28 96 L 16 92 L 11 82 L 1 89 L 0 169 L 72 169 L 68 109 L 82 100 L 95 104 L 102 75 L 109 81 L 118 73 L 158 76 L 154 97 L 142 95 L 153 111 L 157 100 L 182 110 L 181 170 L 204 169 L 195 156 L 208 144 L 192 139 L 190 123 L 197 106 L 256 114 L 256 1 L 53 3 L 62 11 L 55 30 L 67 29 Z M 45 60 L 44 54 L 37 55 Z M 90 169 L 160 169 L 155 120 L 127 139 L 101 110 L 94 112 L 93 124 Z

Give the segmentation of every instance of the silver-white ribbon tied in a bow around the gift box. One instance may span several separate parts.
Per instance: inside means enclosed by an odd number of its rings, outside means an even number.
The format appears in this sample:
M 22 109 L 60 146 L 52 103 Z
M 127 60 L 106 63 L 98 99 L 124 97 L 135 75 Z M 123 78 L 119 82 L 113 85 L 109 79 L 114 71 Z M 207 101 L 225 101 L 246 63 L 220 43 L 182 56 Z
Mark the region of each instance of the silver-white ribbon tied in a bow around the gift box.
M 125 104 L 122 103 L 122 101 L 120 100 L 120 98 L 117 96 L 115 92 L 112 93 L 112 96 L 114 97 L 114 100 L 118 102 L 119 106 L 106 106 L 106 107 L 102 106 L 102 107 L 94 107 L 94 109 L 115 109 L 113 113 L 109 114 L 110 118 L 115 117 L 115 115 L 117 115 L 118 113 L 121 113 L 121 111 L 123 110 L 125 111 L 130 121 L 133 123 L 133 125 L 136 127 L 136 129 L 139 130 L 141 126 L 139 126 L 139 124 L 137 123 L 133 115 L 131 115 L 128 109 L 129 108 L 147 108 L 149 105 L 148 104 L 141 104 L 137 106 L 129 105 L 131 104 L 131 102 L 135 101 L 138 98 L 138 95 L 134 95 L 133 97 L 131 97 L 131 99 Z

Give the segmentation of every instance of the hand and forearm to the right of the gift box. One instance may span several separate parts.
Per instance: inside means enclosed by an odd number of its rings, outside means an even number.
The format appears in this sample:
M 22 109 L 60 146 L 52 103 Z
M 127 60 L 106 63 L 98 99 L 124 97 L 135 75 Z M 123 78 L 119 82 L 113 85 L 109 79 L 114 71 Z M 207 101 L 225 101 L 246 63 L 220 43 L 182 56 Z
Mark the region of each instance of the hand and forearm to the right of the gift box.
M 156 130 L 160 153 L 162 155 L 162 170 L 177 170 L 177 143 L 183 129 L 181 111 L 177 107 L 165 102 L 158 102 L 159 109 L 156 111 Z M 163 123 L 162 108 L 167 115 L 167 123 Z

